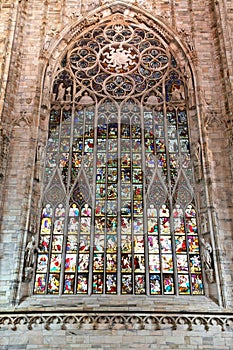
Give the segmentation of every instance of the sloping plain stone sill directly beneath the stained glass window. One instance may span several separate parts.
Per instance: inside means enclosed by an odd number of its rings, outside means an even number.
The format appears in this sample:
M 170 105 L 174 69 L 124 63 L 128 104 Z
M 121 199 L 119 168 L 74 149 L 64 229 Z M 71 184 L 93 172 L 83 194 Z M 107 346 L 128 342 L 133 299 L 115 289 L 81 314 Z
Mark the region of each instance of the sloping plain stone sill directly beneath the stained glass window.
M 14 306 L 14 311 L 34 310 L 73 310 L 78 312 L 95 312 L 121 310 L 121 312 L 226 312 L 206 296 L 145 296 L 145 295 L 51 295 L 27 297 Z M 9 309 L 9 306 L 7 308 Z M 232 311 L 232 310 L 229 310 Z

